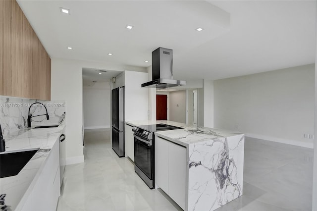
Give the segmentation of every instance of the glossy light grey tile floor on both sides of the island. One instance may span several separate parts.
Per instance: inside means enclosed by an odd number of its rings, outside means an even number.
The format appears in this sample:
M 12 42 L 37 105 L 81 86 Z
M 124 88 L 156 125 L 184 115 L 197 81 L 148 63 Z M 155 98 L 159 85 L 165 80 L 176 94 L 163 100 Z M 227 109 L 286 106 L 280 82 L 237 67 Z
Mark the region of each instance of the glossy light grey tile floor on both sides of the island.
M 181 210 L 117 157 L 109 137 L 109 130 L 85 130 L 85 162 L 66 166 L 57 211 Z M 310 211 L 312 167 L 312 149 L 246 137 L 243 196 L 217 211 Z

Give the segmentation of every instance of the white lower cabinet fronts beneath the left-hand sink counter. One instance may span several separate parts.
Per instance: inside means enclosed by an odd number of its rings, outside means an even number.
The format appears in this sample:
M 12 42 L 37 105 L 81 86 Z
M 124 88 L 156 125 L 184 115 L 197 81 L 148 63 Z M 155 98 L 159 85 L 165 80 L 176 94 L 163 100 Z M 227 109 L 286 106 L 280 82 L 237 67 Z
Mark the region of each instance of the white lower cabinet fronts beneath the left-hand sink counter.
M 22 210 L 55 211 L 60 196 L 59 185 L 59 140 L 57 140 Z

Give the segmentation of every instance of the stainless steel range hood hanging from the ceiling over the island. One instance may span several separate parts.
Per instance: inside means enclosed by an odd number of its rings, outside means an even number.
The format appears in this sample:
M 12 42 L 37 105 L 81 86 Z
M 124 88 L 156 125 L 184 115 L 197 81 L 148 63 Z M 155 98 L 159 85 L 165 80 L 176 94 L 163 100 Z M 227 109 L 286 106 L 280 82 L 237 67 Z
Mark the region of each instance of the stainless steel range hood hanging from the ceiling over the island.
M 173 50 L 158 48 L 152 52 L 152 81 L 142 87 L 169 88 L 186 85 L 186 81 L 173 79 Z

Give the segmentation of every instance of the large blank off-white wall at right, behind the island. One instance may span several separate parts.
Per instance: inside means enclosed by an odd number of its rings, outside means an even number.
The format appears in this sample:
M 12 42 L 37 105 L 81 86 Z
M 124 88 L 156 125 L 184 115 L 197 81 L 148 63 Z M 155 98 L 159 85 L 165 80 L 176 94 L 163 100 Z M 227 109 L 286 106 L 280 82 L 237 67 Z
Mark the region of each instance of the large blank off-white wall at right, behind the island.
M 314 64 L 214 81 L 214 126 L 313 147 Z M 239 129 L 236 129 L 239 125 Z

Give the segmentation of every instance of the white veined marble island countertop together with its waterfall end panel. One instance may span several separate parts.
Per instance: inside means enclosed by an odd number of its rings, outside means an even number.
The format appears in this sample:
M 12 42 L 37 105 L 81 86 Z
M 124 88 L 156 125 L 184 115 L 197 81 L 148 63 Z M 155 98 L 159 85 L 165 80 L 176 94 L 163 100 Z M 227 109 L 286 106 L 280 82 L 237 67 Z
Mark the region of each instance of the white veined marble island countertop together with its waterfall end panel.
M 186 147 L 186 210 L 213 211 L 242 196 L 244 134 L 165 120 L 126 123 L 183 127 L 155 132 L 155 135 Z

